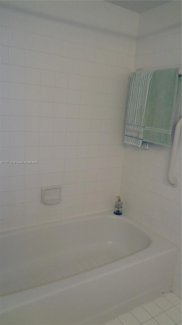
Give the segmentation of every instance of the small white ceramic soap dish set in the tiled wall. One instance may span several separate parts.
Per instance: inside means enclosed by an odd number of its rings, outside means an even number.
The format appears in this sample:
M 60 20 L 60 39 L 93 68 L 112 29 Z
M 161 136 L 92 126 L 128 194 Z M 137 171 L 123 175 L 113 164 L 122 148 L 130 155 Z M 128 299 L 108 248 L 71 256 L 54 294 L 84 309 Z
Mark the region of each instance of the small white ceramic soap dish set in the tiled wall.
M 40 201 L 45 204 L 56 204 L 61 202 L 61 186 L 41 187 Z

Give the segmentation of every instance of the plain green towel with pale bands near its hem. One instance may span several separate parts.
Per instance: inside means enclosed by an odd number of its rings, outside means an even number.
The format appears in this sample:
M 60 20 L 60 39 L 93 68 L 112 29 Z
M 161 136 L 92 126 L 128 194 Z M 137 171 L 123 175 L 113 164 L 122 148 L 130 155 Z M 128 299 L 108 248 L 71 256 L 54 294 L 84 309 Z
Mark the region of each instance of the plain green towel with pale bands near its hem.
M 170 145 L 180 85 L 177 68 L 154 71 L 146 105 L 143 141 Z

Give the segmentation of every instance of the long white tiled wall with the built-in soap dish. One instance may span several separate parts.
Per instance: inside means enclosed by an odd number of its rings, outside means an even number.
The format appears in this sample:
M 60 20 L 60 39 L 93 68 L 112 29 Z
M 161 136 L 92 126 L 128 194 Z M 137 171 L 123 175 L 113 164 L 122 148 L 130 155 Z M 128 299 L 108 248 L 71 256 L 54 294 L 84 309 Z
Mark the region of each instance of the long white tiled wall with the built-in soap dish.
M 1 2 L 1 228 L 112 209 L 139 15 L 105 1 Z M 9 8 L 8 8 L 9 6 Z M 61 185 L 62 201 L 40 202 Z

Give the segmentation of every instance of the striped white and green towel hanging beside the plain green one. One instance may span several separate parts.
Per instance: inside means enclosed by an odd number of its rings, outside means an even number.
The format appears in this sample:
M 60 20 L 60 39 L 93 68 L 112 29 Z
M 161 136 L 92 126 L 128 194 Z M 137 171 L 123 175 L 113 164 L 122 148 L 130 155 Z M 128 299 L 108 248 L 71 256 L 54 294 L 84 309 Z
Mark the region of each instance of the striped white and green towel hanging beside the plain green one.
M 124 142 L 135 147 L 149 148 L 143 141 L 146 103 L 153 71 L 135 72 L 131 79 Z

